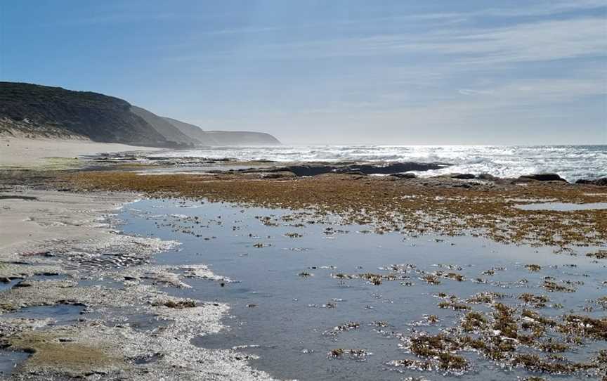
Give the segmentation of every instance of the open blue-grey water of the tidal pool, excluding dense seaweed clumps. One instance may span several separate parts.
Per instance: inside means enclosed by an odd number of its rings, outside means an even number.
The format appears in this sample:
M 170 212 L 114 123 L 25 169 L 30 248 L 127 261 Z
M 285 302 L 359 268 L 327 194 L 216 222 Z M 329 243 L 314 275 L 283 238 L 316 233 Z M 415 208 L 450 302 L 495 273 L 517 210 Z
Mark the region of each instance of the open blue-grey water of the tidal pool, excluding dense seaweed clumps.
M 259 355 L 252 365 L 279 378 L 299 380 L 402 380 L 405 376 L 424 376 L 431 380 L 511 380 L 533 375 L 526 370 L 501 369 L 474 353 L 463 353 L 473 364 L 461 377 L 438 372 L 400 369 L 386 365 L 403 359 L 400 333 L 415 331 L 436 333 L 459 324 L 461 312 L 439 309 L 439 292 L 470 297 L 478 292 L 502 292 L 504 303 L 515 305 L 518 295 L 533 292 L 548 295 L 549 304 L 562 309 L 541 309 L 541 313 L 559 316 L 577 311 L 603 316 L 604 311 L 583 311 L 590 299 L 606 295 L 605 265 L 583 255 L 554 254 L 550 247 L 533 248 L 500 245 L 470 237 L 434 237 L 403 239 L 403 235 L 362 233 L 366 226 L 338 226 L 348 231 L 325 233 L 327 226 L 306 224 L 305 228 L 266 226 L 255 217 L 277 217 L 282 210 L 242 209 L 223 203 L 143 200 L 124 209 L 124 231 L 180 240 L 177 250 L 159 254 L 159 264 L 207 264 L 217 275 L 237 280 L 186 279 L 191 289 L 167 288 L 173 295 L 203 301 L 228 302 L 231 314 L 225 319 L 230 328 L 217 335 L 198 337 L 194 343 L 209 348 L 243 347 L 248 354 Z M 192 217 L 198 217 L 196 224 Z M 299 233 L 301 238 L 289 238 Z M 199 235 L 199 236 L 196 236 Z M 262 243 L 263 247 L 254 247 Z M 585 248 L 584 250 L 592 250 Z M 389 273 L 380 268 L 391 264 L 411 264 L 415 269 L 399 280 L 384 280 L 372 285 L 363 279 L 340 280 L 333 273 Z M 540 271 L 529 271 L 525 264 L 537 264 Z M 455 269 L 455 270 L 453 270 Z M 492 276 L 483 271 L 494 269 Z M 466 278 L 462 282 L 440 279 L 440 285 L 419 280 L 417 271 L 455 271 Z M 311 273 L 302 277 L 300 273 Z M 547 292 L 540 288 L 544 276 L 557 281 L 571 280 L 576 292 Z M 486 284 L 471 281 L 483 278 Z M 527 283 L 521 283 L 526 279 Z M 404 285 L 410 282 L 412 285 Z M 483 304 L 478 311 L 488 311 Z M 416 325 L 424 315 L 434 314 L 435 325 Z M 360 323 L 358 329 L 331 335 L 332 328 L 348 321 Z M 375 321 L 388 325 L 379 332 Z M 604 343 L 567 352 L 573 360 L 588 359 Z M 364 359 L 329 359 L 332 349 L 365 349 Z M 536 374 L 537 375 L 537 374 Z M 542 375 L 546 379 L 551 377 Z M 563 379 L 563 377 L 553 377 Z M 575 379 L 575 377 L 573 377 Z

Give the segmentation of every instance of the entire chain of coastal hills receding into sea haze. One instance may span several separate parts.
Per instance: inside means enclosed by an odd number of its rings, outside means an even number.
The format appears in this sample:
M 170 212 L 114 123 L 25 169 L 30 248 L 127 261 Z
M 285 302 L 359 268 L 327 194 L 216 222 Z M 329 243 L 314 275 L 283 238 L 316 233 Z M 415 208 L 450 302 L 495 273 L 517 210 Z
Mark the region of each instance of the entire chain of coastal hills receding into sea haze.
M 166 148 L 280 144 L 256 132 L 207 133 L 100 93 L 18 82 L 0 82 L 0 135 Z

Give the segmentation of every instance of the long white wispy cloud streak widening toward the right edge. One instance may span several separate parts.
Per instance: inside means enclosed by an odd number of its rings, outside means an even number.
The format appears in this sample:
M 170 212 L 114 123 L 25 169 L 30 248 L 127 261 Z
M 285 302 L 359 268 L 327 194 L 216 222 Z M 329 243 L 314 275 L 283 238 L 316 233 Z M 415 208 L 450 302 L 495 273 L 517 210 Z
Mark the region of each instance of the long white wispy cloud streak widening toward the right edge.
M 499 28 L 452 28 L 426 34 L 384 34 L 240 48 L 252 58 L 460 56 L 462 63 L 556 60 L 607 55 L 603 18 L 528 22 Z M 246 51 L 246 52 L 244 52 Z M 452 59 L 452 58 L 450 58 Z

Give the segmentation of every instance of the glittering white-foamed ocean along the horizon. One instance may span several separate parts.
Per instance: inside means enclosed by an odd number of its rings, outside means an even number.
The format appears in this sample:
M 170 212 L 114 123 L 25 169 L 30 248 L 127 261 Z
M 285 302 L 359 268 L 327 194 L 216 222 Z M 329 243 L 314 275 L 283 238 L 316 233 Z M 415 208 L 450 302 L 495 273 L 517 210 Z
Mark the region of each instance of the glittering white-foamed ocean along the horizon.
M 595 146 L 273 146 L 171 150 L 158 157 L 271 160 L 274 162 L 445 162 L 450 167 L 419 172 L 517 177 L 556 173 L 568 181 L 607 176 L 607 145 Z

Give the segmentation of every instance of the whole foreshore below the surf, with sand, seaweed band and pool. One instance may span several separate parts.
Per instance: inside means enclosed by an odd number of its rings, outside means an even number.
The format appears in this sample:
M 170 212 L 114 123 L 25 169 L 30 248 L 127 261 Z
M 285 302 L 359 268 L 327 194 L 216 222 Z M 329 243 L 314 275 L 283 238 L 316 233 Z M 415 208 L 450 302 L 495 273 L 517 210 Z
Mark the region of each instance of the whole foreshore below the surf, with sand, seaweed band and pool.
M 9 380 L 604 377 L 604 186 L 8 144 Z

